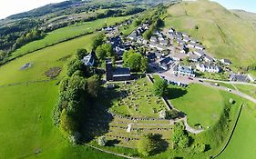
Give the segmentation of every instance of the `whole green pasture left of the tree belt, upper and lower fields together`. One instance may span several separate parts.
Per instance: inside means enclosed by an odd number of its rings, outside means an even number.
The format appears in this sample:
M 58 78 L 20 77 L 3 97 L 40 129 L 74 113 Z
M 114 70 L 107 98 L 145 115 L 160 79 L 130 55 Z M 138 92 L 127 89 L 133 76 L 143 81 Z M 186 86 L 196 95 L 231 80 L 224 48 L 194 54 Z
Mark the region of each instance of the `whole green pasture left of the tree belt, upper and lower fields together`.
M 73 55 L 77 48 L 90 49 L 93 37 L 82 36 L 0 67 L 0 158 L 119 158 L 87 146 L 68 144 L 51 119 L 58 98 L 58 79 L 30 82 L 47 79 L 44 73 L 53 66 L 63 68 L 58 76 L 61 78 L 67 63 L 62 57 Z M 20 70 L 28 62 L 33 63 L 32 67 Z

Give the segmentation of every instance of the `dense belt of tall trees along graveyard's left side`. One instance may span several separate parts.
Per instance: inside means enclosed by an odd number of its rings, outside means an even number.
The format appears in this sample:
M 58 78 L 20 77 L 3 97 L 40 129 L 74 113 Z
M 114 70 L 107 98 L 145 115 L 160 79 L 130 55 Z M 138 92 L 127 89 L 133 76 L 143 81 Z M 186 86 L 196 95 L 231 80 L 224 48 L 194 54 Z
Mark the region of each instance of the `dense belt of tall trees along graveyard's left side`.
M 87 50 L 77 50 L 76 57 L 67 65 L 67 77 L 59 86 L 59 99 L 54 110 L 54 123 L 67 135 L 70 142 L 77 143 L 87 111 L 93 105 L 100 88 L 96 67 L 87 67 L 81 59 Z

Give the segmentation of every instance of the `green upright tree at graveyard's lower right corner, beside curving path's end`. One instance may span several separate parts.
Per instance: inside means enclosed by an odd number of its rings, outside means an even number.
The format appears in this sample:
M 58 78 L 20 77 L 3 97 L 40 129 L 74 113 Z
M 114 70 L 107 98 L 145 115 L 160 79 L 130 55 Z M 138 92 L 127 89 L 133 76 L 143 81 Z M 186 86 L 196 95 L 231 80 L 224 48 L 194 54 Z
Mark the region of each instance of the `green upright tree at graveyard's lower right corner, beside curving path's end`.
M 186 148 L 189 147 L 189 135 L 185 131 L 185 125 L 181 122 L 174 124 L 172 142 L 174 148 Z

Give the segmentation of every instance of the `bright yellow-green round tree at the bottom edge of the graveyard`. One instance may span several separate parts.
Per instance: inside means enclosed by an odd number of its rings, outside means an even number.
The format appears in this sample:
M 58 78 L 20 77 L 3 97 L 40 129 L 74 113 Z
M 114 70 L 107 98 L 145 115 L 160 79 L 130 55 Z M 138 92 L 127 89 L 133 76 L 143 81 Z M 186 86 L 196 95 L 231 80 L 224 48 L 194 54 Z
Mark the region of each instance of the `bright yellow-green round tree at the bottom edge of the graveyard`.
M 144 156 L 154 154 L 158 149 L 158 144 L 159 142 L 155 141 L 153 134 L 143 135 L 137 144 L 138 153 L 143 154 Z

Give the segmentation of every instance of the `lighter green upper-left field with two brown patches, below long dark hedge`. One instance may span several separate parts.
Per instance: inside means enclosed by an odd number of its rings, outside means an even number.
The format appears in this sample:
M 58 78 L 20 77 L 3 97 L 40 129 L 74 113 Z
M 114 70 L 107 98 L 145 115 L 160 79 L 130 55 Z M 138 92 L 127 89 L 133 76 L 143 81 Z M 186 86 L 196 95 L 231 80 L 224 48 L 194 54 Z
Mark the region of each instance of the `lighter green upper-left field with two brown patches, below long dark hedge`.
M 0 85 L 45 80 L 47 79 L 45 72 L 56 66 L 62 67 L 63 70 L 59 76 L 65 75 L 65 64 L 67 64 L 67 61 L 60 59 L 67 57 L 67 55 L 73 55 L 77 51 L 77 48 L 86 47 L 89 51 L 91 39 L 94 37 L 95 35 L 85 35 L 17 58 L 7 65 L 2 65 L 0 67 Z M 27 63 L 31 63 L 32 66 L 26 70 L 21 70 L 20 68 Z

